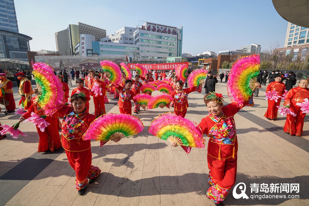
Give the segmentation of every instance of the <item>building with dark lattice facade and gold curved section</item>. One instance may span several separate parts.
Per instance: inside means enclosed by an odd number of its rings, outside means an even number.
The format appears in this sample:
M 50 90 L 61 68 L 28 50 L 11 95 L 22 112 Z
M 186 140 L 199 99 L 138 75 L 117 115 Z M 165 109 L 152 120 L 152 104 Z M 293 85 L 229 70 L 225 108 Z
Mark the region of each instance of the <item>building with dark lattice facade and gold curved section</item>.
M 60 55 L 74 55 L 75 45 L 80 42 L 80 35 L 88 34 L 95 37 L 96 41 L 106 37 L 106 30 L 78 22 L 70 24 L 68 28 L 55 33 L 56 48 Z

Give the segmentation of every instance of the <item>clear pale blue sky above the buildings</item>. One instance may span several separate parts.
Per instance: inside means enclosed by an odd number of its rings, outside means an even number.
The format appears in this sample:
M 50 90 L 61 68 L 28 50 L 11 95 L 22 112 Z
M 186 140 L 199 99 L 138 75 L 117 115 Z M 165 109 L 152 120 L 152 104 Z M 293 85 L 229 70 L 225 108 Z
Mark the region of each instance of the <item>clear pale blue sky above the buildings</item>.
M 15 0 L 19 32 L 31 36 L 32 51 L 56 50 L 55 32 L 86 23 L 114 34 L 139 21 L 184 27 L 183 53 L 239 49 L 248 44 L 284 45 L 287 21 L 271 0 L 97 1 Z

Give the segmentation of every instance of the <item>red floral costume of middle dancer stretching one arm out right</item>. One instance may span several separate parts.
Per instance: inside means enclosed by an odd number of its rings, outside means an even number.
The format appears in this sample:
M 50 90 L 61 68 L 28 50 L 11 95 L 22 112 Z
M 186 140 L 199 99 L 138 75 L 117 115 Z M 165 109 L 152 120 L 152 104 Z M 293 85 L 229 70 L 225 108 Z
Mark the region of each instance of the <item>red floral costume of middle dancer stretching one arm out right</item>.
M 197 87 L 182 89 L 181 91 L 175 90 L 171 96 L 174 101 L 174 113 L 178 116 L 184 117 L 188 108 L 188 94 L 196 91 Z

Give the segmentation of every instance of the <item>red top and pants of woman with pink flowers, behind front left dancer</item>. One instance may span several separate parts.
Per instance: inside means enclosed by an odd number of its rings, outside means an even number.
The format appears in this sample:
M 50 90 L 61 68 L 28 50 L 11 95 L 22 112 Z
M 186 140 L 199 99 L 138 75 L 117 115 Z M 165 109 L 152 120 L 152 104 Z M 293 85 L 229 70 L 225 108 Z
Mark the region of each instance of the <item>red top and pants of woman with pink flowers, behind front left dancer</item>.
M 37 96 L 32 98 L 31 106 L 28 108 L 27 112 L 23 114 L 23 117 L 25 119 L 28 119 L 31 116 L 31 112 L 34 112 L 39 116 L 45 115 L 45 111 L 41 108 L 37 100 L 38 100 Z M 38 152 L 45 152 L 47 150 L 53 152 L 55 151 L 55 149 L 62 147 L 58 131 L 58 120 L 59 115 L 56 112 L 55 114 L 53 114 L 53 116 L 51 117 L 47 116 L 45 118 L 45 121 L 47 121 L 49 125 L 45 128 L 44 132 L 41 132 L 40 128 L 36 127 L 36 130 L 39 134 Z

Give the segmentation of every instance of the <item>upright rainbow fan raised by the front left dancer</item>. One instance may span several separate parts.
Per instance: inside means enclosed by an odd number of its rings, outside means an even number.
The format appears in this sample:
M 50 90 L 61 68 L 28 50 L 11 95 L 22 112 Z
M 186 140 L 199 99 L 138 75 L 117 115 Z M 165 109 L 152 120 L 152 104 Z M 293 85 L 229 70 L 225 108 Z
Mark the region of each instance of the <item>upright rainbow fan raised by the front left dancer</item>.
M 64 92 L 59 78 L 54 74 L 53 68 L 48 64 L 37 62 L 33 65 L 32 74 L 36 81 L 38 102 L 45 111 L 45 115 L 51 116 L 62 107 Z

